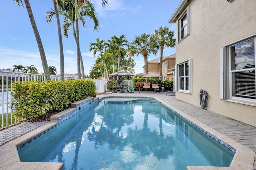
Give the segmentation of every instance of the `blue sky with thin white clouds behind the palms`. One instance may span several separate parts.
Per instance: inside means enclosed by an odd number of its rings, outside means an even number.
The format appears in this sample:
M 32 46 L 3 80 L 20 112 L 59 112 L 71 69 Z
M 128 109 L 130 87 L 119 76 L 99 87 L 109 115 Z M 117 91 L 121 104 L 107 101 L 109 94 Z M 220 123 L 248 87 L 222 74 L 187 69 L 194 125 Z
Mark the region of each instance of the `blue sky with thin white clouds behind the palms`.
M 89 51 L 89 44 L 100 40 L 108 41 L 112 36 L 125 35 L 129 42 L 142 33 L 154 33 L 160 26 L 169 27 L 175 31 L 176 25 L 168 23 L 180 0 L 108 0 L 108 5 L 102 8 L 102 0 L 91 0 L 100 23 L 100 29 L 93 31 L 94 24 L 86 18 L 86 28 L 80 23 L 80 49 L 84 62 L 85 74 L 89 75 L 96 61 Z M 48 66 L 55 66 L 60 73 L 60 50 L 56 18 L 52 25 L 46 23 L 46 12 L 54 8 L 52 0 L 30 0 L 34 19 L 42 39 Z M 62 16 L 60 16 L 62 18 Z M 62 24 L 61 19 L 61 24 Z M 68 39 L 62 34 L 64 49 L 65 73 L 77 73 L 76 43 L 72 29 Z M 175 48 L 164 49 L 163 56 L 172 55 Z M 148 61 L 160 57 L 150 54 Z M 144 59 L 142 55 L 133 57 L 136 61 L 135 73 L 143 72 Z M 0 6 L 0 69 L 13 69 L 13 65 L 34 65 L 39 73 L 43 72 L 38 45 L 28 17 L 26 6 L 19 7 L 14 0 L 3 0 Z

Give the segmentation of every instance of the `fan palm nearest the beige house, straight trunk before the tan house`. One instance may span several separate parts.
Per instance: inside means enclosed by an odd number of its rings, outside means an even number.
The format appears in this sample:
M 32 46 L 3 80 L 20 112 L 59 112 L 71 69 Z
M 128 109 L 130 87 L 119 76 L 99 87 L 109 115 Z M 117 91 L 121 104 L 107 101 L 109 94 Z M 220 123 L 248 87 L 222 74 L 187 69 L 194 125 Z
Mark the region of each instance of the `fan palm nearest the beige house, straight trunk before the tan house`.
M 158 38 L 158 44 L 160 45 L 160 66 L 159 66 L 159 74 L 162 76 L 162 64 L 163 64 L 163 51 L 165 47 L 174 47 L 175 39 L 174 31 L 170 31 L 168 27 L 159 27 L 159 29 L 155 30 L 155 35 Z

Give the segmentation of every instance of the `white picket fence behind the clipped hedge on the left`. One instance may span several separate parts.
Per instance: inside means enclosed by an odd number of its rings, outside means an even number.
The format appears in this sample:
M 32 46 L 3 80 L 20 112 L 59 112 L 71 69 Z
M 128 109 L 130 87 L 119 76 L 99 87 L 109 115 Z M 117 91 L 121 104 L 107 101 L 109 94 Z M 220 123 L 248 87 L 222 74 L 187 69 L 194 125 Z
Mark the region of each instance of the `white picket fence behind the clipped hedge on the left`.
M 65 80 L 77 79 L 75 77 L 65 77 Z M 0 129 L 15 125 L 21 120 L 14 119 L 12 109 L 10 108 L 11 103 L 11 92 L 13 82 L 23 82 L 23 81 L 44 81 L 44 74 L 30 74 L 23 72 L 14 72 L 12 70 L 0 70 L 0 83 L 2 88 L 0 88 Z M 60 80 L 60 76 L 51 76 L 51 80 Z M 104 80 L 90 79 L 96 83 L 96 92 L 104 92 Z M 9 122 L 8 122 L 9 120 Z

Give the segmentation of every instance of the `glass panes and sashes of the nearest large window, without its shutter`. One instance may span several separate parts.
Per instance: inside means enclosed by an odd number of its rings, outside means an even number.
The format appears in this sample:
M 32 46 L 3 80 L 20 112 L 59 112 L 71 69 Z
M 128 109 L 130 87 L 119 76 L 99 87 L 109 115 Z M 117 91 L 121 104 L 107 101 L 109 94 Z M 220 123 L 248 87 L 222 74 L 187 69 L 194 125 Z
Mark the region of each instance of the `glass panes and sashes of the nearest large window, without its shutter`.
M 255 98 L 255 39 L 230 47 L 232 96 Z

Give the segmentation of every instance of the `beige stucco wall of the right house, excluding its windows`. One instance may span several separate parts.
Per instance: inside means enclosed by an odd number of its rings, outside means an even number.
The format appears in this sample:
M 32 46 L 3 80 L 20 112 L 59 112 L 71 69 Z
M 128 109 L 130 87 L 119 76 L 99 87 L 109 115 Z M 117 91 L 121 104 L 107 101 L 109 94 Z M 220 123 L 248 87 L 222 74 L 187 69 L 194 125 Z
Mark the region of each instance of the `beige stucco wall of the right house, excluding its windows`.
M 200 89 L 206 90 L 209 94 L 206 109 L 256 127 L 256 101 L 250 102 L 250 106 L 246 102 L 220 100 L 220 47 L 256 34 L 256 1 L 186 0 L 185 3 L 182 0 L 182 3 L 176 14 L 189 6 L 190 34 L 176 43 L 176 64 L 192 59 L 192 94 L 177 91 L 176 98 L 200 106 Z M 176 22 L 178 17 L 174 14 L 169 23 Z

